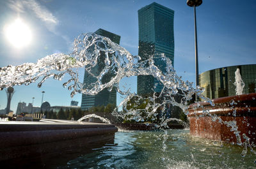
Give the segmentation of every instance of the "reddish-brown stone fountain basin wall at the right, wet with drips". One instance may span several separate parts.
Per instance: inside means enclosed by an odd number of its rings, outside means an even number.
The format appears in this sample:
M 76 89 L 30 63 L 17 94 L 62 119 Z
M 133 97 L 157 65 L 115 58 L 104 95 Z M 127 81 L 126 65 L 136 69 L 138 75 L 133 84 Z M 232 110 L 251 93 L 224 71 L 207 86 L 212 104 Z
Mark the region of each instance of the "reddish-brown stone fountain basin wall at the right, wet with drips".
M 237 142 L 232 128 L 223 122 L 236 121 L 237 131 L 240 131 L 241 141 L 243 133 L 256 141 L 256 93 L 242 94 L 213 99 L 215 106 L 207 102 L 200 102 L 189 106 L 190 134 L 223 142 Z M 206 111 L 205 111 L 206 110 Z M 211 116 L 214 116 L 213 118 Z M 219 122 L 220 119 L 221 121 Z M 231 131 L 231 132 L 230 132 Z

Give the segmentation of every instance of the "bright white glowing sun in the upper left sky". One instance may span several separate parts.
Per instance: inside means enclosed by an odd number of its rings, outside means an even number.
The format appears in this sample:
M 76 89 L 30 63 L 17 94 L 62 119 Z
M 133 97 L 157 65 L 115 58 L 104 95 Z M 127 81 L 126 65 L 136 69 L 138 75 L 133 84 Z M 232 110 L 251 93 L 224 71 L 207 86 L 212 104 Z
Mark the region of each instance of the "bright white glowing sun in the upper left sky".
M 16 48 L 26 47 L 32 38 L 31 30 L 20 18 L 5 26 L 4 34 L 7 40 Z

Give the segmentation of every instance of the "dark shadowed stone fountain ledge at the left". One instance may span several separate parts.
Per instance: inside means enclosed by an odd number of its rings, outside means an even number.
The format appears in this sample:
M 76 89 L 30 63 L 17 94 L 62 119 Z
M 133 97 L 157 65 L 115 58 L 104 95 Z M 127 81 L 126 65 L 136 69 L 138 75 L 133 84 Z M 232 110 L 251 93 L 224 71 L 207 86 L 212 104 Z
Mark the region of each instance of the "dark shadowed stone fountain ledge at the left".
M 1 122 L 0 161 L 42 159 L 101 147 L 113 143 L 116 131 L 112 124 L 92 122 Z

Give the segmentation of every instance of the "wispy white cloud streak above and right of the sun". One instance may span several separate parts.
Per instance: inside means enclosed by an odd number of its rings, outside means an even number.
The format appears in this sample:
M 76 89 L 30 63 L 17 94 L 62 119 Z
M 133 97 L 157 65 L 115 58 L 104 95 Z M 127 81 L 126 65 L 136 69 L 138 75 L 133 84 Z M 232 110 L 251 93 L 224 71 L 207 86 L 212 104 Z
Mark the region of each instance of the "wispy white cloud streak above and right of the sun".
M 59 31 L 57 31 L 56 26 L 58 26 L 58 24 L 59 24 L 58 18 L 56 18 L 51 13 L 51 11 L 49 11 L 47 8 L 45 8 L 45 6 L 38 3 L 37 1 L 35 1 L 35 0 L 10 0 L 10 1 L 8 1 L 8 6 L 12 10 L 16 11 L 17 13 L 25 13 L 26 10 L 32 11 L 37 18 L 39 18 L 40 20 L 42 20 L 42 22 L 44 22 L 45 27 L 49 31 L 51 31 L 51 33 L 54 33 L 57 36 L 61 36 L 61 38 L 63 38 L 63 40 L 66 41 L 68 46 L 70 45 L 70 43 L 72 43 L 67 36 L 65 36 L 65 35 L 59 33 Z

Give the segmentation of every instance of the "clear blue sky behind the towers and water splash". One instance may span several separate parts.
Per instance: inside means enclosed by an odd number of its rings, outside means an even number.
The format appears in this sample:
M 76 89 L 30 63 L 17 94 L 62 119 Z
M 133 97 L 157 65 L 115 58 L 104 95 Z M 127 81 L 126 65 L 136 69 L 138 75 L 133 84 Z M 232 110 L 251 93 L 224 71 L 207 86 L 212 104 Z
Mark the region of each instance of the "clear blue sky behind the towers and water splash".
M 121 36 L 120 45 L 138 55 L 138 10 L 150 3 L 159 3 L 175 11 L 174 68 L 184 81 L 195 82 L 195 36 L 193 8 L 186 0 L 6 0 L 0 1 L 0 67 L 17 66 L 54 53 L 70 54 L 75 38 L 102 28 Z M 256 3 L 247 0 L 207 0 L 196 8 L 199 73 L 224 66 L 256 64 Z M 6 27 L 17 18 L 31 30 L 31 41 L 14 47 L 6 38 Z M 25 41 L 24 43 L 25 44 Z M 83 81 L 83 72 L 80 73 Z M 67 79 L 67 78 L 66 78 Z M 44 101 L 51 106 L 68 106 L 79 101 L 81 94 L 70 98 L 62 87 L 64 81 L 48 79 L 38 88 L 30 85 L 14 87 L 11 110 L 19 101 L 40 107 Z M 124 78 L 120 85 L 136 92 L 136 77 Z M 122 98 L 118 95 L 117 103 Z M 0 91 L 0 110 L 6 108 L 6 91 Z

